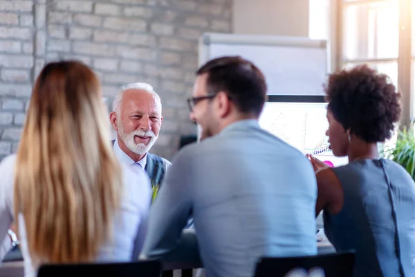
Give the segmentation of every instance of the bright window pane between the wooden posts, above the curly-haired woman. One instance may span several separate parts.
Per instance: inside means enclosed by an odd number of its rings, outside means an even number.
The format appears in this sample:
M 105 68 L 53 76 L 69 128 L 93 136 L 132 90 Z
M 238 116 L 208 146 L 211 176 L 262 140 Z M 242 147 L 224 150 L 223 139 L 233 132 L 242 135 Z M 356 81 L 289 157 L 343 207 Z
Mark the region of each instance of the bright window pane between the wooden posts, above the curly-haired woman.
M 341 3 L 341 67 L 366 63 L 398 85 L 399 1 Z

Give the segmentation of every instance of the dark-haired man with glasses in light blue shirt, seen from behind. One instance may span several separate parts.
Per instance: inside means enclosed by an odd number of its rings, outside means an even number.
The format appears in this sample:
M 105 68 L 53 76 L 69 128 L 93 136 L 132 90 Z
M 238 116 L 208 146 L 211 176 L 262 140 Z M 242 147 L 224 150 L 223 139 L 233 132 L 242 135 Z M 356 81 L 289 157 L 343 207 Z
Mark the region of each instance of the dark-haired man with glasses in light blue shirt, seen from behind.
M 201 142 L 174 158 L 149 215 L 142 258 L 187 262 L 199 244 L 207 276 L 248 277 L 261 256 L 317 253 L 313 168 L 259 127 L 265 100 L 264 75 L 241 57 L 197 71 L 187 102 Z M 182 235 L 190 215 L 196 233 Z

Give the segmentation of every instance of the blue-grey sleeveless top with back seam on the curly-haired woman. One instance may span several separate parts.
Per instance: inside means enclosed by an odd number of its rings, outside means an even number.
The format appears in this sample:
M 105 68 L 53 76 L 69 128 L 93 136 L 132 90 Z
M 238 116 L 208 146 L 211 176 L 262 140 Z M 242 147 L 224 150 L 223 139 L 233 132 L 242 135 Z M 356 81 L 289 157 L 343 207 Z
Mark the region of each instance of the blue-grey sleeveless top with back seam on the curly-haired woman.
M 414 180 L 385 159 L 332 170 L 344 205 L 337 215 L 324 211 L 324 231 L 336 251 L 356 251 L 354 276 L 415 276 Z

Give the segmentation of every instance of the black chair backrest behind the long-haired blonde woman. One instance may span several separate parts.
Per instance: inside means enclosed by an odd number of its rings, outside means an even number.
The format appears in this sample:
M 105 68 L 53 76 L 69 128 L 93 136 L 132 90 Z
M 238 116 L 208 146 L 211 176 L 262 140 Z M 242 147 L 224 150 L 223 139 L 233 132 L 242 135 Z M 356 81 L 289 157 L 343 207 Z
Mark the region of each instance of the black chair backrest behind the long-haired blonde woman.
M 158 260 L 139 262 L 42 265 L 37 277 L 160 277 Z

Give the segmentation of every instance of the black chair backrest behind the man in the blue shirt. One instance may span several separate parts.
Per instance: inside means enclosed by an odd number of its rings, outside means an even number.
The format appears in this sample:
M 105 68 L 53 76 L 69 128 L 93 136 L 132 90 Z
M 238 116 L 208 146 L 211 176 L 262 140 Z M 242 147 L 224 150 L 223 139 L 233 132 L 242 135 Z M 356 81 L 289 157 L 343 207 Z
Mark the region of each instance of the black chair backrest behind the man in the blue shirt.
M 326 277 L 351 277 L 354 262 L 353 252 L 291 258 L 264 257 L 257 263 L 255 277 L 282 277 L 291 269 L 303 268 L 308 271 L 313 267 L 322 268 Z

